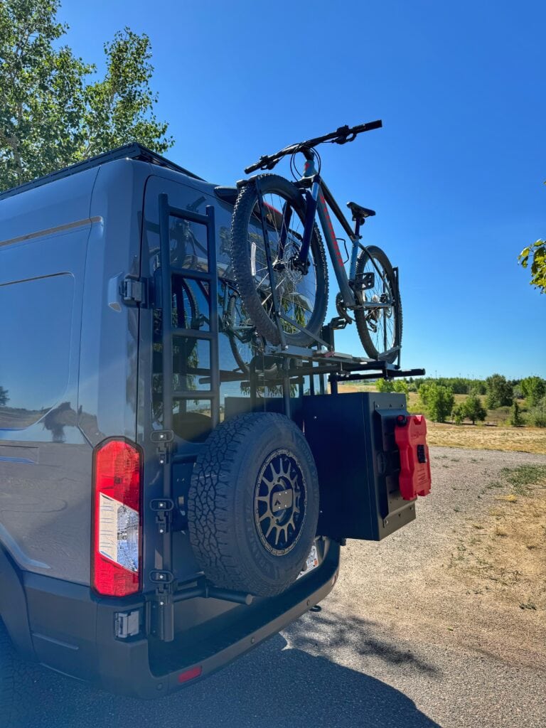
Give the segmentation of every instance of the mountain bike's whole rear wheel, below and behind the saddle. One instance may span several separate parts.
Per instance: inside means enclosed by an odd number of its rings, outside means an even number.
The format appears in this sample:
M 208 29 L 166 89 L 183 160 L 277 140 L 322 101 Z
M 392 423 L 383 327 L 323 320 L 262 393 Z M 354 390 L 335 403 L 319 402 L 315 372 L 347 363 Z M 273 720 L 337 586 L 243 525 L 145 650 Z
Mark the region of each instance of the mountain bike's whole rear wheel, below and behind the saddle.
M 368 357 L 393 363 L 402 342 L 402 304 L 395 272 L 381 248 L 370 245 L 357 259 L 355 282 L 373 274 L 373 286 L 355 309 L 358 336 Z

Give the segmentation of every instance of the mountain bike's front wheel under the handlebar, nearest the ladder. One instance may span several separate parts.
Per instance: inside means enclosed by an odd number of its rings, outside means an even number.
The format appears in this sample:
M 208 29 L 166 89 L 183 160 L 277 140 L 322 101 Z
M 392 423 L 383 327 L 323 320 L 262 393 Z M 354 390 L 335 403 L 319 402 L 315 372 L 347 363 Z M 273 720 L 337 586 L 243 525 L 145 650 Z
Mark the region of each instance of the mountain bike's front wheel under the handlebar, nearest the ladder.
M 313 343 L 313 336 L 320 335 L 328 305 L 328 269 L 323 242 L 314 225 L 309 269 L 306 274 L 298 271 L 292 261 L 299 253 L 304 235 L 304 199 L 298 189 L 282 177 L 262 175 L 258 180 L 266 208 L 269 251 L 272 262 L 277 263 L 277 270 L 270 281 L 258 189 L 256 182 L 249 182 L 237 197 L 232 218 L 231 256 L 237 290 L 258 333 L 271 344 L 280 344 L 272 297 L 275 290 L 284 317 L 279 320 L 286 343 L 306 347 Z M 291 210 L 291 217 L 285 249 L 280 251 L 285 209 Z

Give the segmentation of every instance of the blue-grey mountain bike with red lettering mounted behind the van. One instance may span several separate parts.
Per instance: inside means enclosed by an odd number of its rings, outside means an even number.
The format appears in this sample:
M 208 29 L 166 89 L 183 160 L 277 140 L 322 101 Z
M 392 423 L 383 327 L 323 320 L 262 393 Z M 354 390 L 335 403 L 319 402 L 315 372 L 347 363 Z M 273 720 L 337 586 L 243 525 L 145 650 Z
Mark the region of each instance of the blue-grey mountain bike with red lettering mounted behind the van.
M 354 322 L 368 357 L 393 363 L 400 352 L 402 307 L 397 269 L 376 246 L 360 242 L 360 228 L 373 210 L 348 202 L 354 229 L 320 176 L 321 143 L 345 144 L 381 121 L 339 127 L 321 137 L 291 144 L 260 157 L 245 169 L 272 170 L 290 155 L 296 182 L 260 174 L 239 183 L 232 218 L 231 258 L 237 290 L 258 334 L 273 345 L 309 347 L 323 343 L 320 333 L 328 306 L 328 266 L 315 218 L 318 215 L 339 286 L 333 328 Z M 296 155 L 305 158 L 303 175 Z M 352 244 L 344 260 L 328 208 Z M 347 245 L 345 246 L 347 252 Z M 345 264 L 349 260 L 349 274 Z

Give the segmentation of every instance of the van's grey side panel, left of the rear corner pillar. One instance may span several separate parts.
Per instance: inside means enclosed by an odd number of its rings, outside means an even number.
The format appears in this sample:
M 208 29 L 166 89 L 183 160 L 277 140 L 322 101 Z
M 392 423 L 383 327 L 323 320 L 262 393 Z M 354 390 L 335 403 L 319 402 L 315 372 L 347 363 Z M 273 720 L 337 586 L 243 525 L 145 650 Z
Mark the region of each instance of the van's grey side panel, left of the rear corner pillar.
M 65 203 L 64 221 L 74 221 L 71 200 Z M 89 216 L 89 199 L 82 214 Z M 59 210 L 45 222 L 27 216 L 28 232 L 53 224 L 63 225 Z M 0 542 L 26 571 L 82 584 L 90 571 L 91 448 L 77 412 L 91 227 L 0 247 Z M 20 220 L 13 232 L 25 232 Z

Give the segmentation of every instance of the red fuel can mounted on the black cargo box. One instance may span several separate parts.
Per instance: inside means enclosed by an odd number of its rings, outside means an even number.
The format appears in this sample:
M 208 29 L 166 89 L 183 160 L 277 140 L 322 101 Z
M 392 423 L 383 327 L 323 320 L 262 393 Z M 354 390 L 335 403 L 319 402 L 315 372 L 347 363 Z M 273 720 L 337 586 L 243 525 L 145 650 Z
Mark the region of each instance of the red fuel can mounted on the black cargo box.
M 430 493 L 427 421 L 422 414 L 399 415 L 395 439 L 400 451 L 400 494 L 405 500 Z

